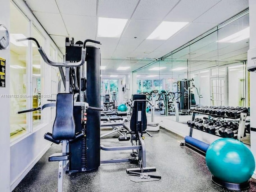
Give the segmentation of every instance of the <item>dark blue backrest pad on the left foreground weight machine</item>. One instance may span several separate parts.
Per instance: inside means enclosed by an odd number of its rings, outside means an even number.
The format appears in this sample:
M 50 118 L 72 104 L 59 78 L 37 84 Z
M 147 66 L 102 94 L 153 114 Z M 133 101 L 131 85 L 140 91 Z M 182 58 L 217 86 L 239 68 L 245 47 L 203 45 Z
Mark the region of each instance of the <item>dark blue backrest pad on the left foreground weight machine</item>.
M 74 139 L 75 122 L 73 116 L 74 95 L 59 93 L 56 100 L 56 117 L 52 127 L 52 138 L 55 140 Z

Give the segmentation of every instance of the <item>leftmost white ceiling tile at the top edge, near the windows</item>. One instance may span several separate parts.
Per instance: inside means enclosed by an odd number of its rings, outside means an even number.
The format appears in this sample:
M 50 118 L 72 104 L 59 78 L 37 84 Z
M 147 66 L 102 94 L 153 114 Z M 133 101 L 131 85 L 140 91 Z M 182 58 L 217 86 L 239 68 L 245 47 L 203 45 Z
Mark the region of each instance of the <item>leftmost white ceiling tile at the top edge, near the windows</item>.
M 60 13 L 55 0 L 26 0 L 26 3 L 32 11 L 46 13 Z

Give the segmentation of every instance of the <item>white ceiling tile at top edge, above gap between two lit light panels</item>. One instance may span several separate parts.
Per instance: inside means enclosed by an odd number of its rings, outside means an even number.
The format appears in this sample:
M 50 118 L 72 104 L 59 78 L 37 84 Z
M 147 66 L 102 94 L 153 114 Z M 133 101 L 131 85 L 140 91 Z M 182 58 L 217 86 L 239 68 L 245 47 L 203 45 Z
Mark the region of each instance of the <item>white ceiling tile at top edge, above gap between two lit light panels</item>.
M 162 20 L 179 0 L 141 0 L 132 19 Z

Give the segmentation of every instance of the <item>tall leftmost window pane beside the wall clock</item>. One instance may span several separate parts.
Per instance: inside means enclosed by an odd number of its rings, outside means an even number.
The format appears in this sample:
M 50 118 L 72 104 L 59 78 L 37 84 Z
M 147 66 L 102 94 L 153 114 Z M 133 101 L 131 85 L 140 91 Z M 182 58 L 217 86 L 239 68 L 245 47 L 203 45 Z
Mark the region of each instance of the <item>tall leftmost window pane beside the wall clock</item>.
M 28 132 L 29 114 L 17 114 L 28 106 L 28 42 L 16 39 L 28 37 L 28 20 L 11 3 L 10 5 L 10 138 L 13 140 Z

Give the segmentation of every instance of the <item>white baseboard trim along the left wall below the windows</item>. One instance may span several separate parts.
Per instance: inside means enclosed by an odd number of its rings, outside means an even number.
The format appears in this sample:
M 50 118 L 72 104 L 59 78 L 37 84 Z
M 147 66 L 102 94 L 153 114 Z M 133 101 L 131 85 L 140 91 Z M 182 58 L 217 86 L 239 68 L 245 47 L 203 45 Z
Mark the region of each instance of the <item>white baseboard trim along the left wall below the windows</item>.
M 50 148 L 50 144 L 47 145 L 44 150 L 34 159 L 34 161 L 28 165 L 25 170 L 14 180 L 14 182 L 11 183 L 11 191 L 18 186 L 18 184 L 22 181 L 22 179 L 30 172 L 30 170 L 34 167 L 34 165 L 42 158 L 42 156 L 46 153 L 46 151 Z

